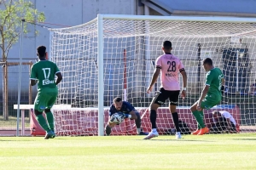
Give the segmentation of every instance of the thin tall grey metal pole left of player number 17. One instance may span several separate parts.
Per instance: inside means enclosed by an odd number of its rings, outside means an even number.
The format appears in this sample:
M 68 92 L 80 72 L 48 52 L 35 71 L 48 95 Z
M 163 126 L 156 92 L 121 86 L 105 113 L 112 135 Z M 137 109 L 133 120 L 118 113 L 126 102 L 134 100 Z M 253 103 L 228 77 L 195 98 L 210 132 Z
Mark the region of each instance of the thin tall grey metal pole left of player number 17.
M 19 120 L 20 120 L 20 83 L 21 83 L 21 65 L 22 65 L 22 48 L 23 48 L 23 30 L 25 20 L 21 20 L 21 32 L 20 32 L 20 67 L 19 67 L 19 82 L 18 82 L 18 109 L 17 109 L 17 129 L 16 136 L 19 136 Z

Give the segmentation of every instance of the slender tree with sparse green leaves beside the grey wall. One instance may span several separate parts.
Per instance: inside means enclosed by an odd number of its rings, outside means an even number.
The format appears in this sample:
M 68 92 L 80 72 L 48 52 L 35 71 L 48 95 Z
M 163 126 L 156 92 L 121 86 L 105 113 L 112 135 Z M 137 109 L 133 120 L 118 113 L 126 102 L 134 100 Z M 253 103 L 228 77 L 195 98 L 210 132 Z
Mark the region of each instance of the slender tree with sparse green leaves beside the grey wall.
M 7 58 L 10 48 L 19 40 L 21 20 L 44 22 L 44 13 L 38 12 L 32 2 L 25 0 L 0 0 L 0 48 L 3 64 L 3 117 L 8 120 Z M 30 32 L 24 22 L 24 34 Z M 34 32 L 38 34 L 38 31 Z

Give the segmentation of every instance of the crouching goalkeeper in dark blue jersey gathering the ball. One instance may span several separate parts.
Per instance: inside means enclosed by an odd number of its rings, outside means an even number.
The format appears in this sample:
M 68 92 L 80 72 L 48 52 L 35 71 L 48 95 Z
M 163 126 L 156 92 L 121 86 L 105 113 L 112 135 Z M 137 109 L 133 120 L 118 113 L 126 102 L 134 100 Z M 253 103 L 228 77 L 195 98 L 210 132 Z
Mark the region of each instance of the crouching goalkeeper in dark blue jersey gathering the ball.
M 110 106 L 109 109 L 109 119 L 108 124 L 105 128 L 107 136 L 111 133 L 111 128 L 113 128 L 115 125 L 119 125 L 119 123 L 112 122 L 111 116 L 115 113 L 120 113 L 122 115 L 122 118 L 130 118 L 131 120 L 135 120 L 135 124 L 137 127 L 137 134 L 138 135 L 148 135 L 148 133 L 143 133 L 141 124 L 141 116 L 138 111 L 135 110 L 135 108 L 126 101 L 122 101 L 121 98 L 117 97 L 113 99 L 113 104 Z

